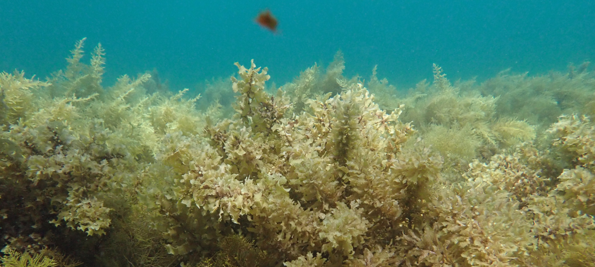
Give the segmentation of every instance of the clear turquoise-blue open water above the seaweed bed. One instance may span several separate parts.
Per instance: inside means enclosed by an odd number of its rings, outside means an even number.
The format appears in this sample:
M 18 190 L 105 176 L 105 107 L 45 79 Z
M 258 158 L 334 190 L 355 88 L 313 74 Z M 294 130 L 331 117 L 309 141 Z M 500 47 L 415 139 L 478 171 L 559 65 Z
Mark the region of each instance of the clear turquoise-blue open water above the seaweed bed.
M 259 11 L 280 33 L 259 27 Z M 345 54 L 347 76 L 404 88 L 431 77 L 531 74 L 595 59 L 595 1 L 130 1 L 44 0 L 0 4 L 0 71 L 44 78 L 64 68 L 74 43 L 107 53 L 104 85 L 157 69 L 172 90 L 228 77 L 255 59 L 278 85 L 314 62 Z

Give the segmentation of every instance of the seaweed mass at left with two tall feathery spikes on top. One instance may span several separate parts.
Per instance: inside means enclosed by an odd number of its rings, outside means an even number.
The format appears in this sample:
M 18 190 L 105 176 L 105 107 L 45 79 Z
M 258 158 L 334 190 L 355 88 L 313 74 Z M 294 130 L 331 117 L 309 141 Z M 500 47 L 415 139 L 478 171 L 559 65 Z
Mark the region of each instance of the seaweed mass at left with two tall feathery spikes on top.
M 108 240 L 98 236 L 129 214 L 162 138 L 200 131 L 194 100 L 146 96 L 148 74 L 104 90 L 104 51 L 98 45 L 86 64 L 83 44 L 46 82 L 0 74 L 2 247 L 55 247 L 88 262 L 90 247 Z

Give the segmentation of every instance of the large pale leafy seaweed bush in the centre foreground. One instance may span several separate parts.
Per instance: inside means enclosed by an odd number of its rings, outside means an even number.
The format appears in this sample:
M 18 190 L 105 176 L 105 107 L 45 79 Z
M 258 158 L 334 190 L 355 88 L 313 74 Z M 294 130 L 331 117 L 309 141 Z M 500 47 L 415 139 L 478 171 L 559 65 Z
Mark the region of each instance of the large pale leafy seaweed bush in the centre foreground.
M 188 151 L 189 170 L 164 190 L 171 195 L 151 204 L 176 221 L 164 225 L 170 253 L 208 251 L 238 231 L 275 259 L 318 251 L 339 264 L 383 250 L 421 219 L 415 199 L 426 198 L 441 161 L 424 148 L 402 151 L 414 130 L 399 122 L 400 109 L 386 113 L 362 84 L 348 84 L 287 115 L 284 92 L 264 91 L 267 68 L 236 65 L 236 115 L 206 128 L 208 142 Z

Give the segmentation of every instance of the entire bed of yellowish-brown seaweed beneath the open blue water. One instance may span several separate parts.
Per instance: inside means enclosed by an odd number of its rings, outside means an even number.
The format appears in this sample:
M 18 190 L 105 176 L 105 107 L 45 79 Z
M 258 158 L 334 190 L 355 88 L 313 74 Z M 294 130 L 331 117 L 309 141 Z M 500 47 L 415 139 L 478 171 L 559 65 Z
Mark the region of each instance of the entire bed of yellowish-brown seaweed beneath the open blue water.
M 83 44 L 0 74 L 2 266 L 595 265 L 588 62 L 407 93 L 236 63 L 204 101 Z

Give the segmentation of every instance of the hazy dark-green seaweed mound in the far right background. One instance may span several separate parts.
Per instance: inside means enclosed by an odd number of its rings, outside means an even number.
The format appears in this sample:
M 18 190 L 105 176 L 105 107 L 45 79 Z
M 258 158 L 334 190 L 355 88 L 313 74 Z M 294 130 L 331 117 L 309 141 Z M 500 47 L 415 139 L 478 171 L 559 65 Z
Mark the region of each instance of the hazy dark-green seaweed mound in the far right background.
M 590 62 L 572 63 L 568 72 L 551 71 L 531 77 L 527 72 L 514 74 L 511 69 L 477 87 L 484 95 L 499 96 L 497 113 L 524 119 L 545 130 L 560 115 L 593 116 L 595 75 Z

